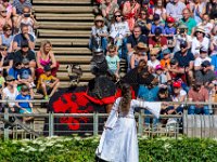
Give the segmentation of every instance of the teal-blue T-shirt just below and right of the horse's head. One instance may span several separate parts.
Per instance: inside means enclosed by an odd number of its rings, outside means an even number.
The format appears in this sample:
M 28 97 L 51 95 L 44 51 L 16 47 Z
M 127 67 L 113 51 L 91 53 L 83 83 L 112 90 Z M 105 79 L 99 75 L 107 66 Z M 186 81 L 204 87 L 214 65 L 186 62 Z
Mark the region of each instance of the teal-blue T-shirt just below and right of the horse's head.
M 138 91 L 138 97 L 146 102 L 155 102 L 157 99 L 158 90 L 158 86 L 148 89 L 144 85 L 140 85 Z

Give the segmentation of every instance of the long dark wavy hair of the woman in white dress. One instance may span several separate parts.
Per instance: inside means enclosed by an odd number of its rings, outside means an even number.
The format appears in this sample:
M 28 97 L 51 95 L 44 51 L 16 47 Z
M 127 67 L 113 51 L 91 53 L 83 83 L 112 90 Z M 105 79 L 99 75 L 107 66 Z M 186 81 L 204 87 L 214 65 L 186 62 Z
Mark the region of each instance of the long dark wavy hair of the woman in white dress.
M 122 85 L 122 100 L 119 103 L 120 111 L 124 113 L 128 113 L 130 109 L 130 102 L 131 102 L 131 91 L 130 85 L 127 83 L 124 83 Z

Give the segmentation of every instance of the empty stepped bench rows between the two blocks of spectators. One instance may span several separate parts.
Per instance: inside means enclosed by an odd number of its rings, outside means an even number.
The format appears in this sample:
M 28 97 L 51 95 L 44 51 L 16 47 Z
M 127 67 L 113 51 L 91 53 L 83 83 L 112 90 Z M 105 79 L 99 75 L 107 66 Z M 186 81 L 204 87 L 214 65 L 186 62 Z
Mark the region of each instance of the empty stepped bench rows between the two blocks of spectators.
M 36 50 L 42 40 L 50 40 L 60 63 L 58 78 L 67 87 L 67 64 L 80 64 L 84 70 L 81 84 L 93 78 L 90 73 L 91 52 L 88 49 L 94 15 L 91 0 L 33 0 L 39 29 Z

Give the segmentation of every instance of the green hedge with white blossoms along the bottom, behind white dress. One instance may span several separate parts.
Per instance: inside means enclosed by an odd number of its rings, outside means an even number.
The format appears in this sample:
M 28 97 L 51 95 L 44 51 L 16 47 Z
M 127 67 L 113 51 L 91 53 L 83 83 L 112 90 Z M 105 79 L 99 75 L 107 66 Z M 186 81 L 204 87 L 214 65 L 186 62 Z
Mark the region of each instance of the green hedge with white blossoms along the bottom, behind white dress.
M 0 162 L 94 162 L 99 137 L 0 141 Z M 217 140 L 139 137 L 140 162 L 217 162 Z

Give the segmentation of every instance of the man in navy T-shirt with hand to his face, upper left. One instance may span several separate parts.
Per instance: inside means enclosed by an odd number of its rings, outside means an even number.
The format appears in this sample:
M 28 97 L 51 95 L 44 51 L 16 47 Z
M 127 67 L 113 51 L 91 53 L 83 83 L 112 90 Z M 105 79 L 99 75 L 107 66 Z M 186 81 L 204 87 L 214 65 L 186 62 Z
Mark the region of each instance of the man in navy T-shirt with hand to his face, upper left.
M 14 37 L 12 50 L 13 51 L 20 50 L 22 42 L 27 42 L 28 48 L 30 50 L 34 50 L 34 48 L 35 48 L 34 37 L 30 33 L 28 33 L 28 25 L 23 24 L 21 26 L 21 31 L 22 31 L 21 33 L 17 33 Z

